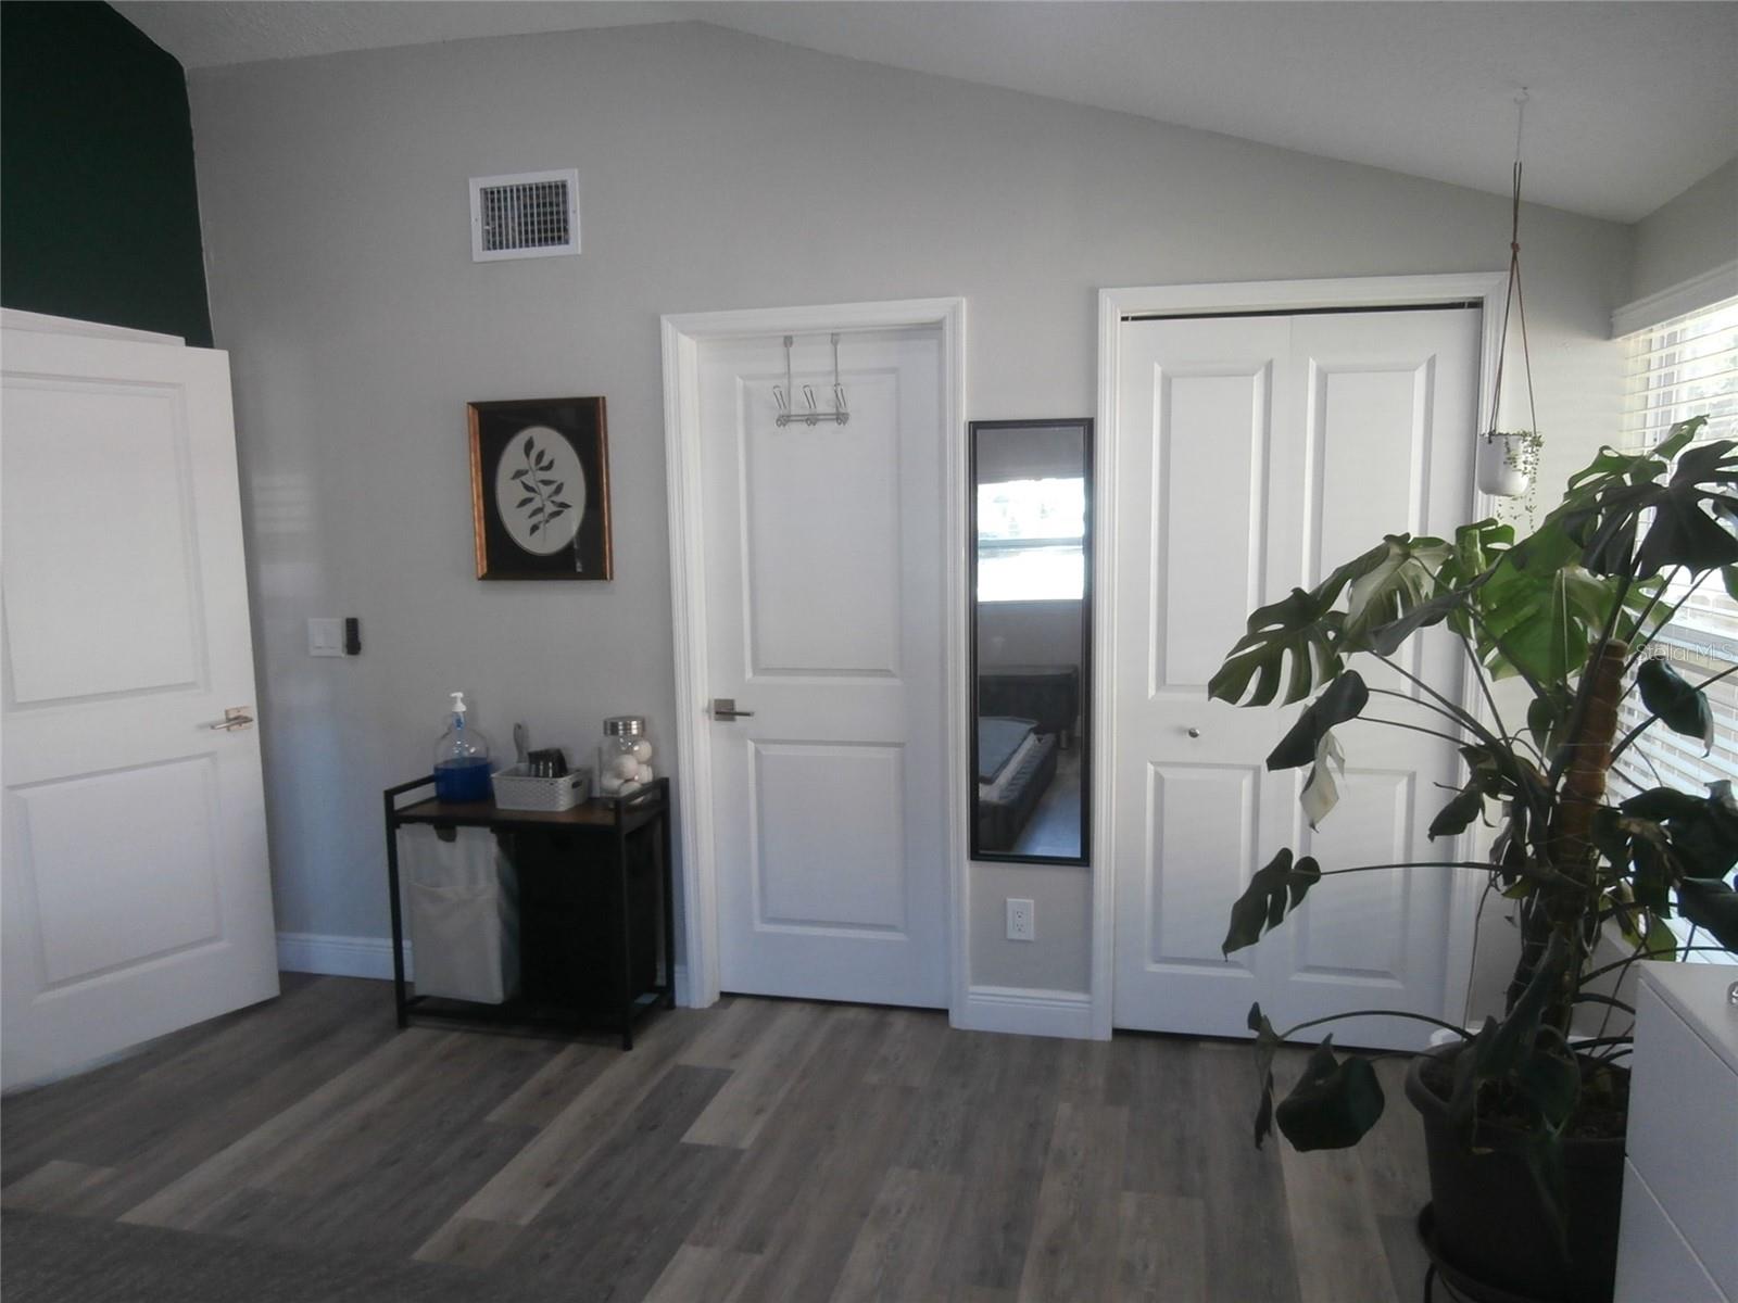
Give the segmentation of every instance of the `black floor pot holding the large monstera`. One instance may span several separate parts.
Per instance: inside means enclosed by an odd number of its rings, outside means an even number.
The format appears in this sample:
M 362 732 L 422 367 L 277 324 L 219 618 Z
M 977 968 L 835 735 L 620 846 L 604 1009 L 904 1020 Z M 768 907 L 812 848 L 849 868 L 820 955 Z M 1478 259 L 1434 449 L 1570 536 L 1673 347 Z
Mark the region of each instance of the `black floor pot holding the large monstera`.
M 1432 1051 L 1449 1056 L 1458 1046 Z M 1623 1140 L 1562 1145 L 1568 1256 L 1521 1152 L 1519 1133 L 1481 1128 L 1474 1154 L 1448 1119 L 1448 1101 L 1423 1082 L 1432 1055 L 1406 1074 L 1406 1098 L 1423 1115 L 1430 1161 L 1430 1253 L 1460 1293 L 1479 1303 L 1611 1303 L 1623 1197 Z

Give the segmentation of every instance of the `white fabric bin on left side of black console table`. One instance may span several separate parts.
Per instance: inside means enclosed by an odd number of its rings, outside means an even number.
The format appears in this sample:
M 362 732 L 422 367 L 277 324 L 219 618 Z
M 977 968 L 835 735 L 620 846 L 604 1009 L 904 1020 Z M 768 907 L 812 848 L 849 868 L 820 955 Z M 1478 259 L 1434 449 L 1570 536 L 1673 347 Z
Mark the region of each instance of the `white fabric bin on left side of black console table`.
M 520 976 L 520 902 L 513 865 L 485 829 L 398 832 L 419 995 L 501 1004 Z

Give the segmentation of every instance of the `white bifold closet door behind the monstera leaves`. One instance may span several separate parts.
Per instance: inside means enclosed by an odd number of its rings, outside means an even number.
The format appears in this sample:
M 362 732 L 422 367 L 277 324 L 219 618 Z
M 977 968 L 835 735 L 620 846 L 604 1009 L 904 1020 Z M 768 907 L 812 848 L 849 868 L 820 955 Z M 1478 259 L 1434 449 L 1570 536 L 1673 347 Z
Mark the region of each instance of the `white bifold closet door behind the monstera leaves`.
M 1257 999 L 1281 1029 L 1371 1006 L 1441 1016 L 1451 870 L 1330 877 L 1260 945 L 1227 961 L 1220 942 L 1283 846 L 1323 869 L 1455 858 L 1425 839 L 1453 747 L 1342 726 L 1340 804 L 1312 832 L 1305 771 L 1264 764 L 1302 705 L 1239 709 L 1206 685 L 1255 606 L 1385 533 L 1448 537 L 1469 519 L 1479 311 L 1126 321 L 1121 351 L 1114 1022 L 1243 1035 Z M 1458 690 L 1448 634 L 1408 655 Z M 1418 721 L 1404 702 L 1370 714 Z M 1361 1020 L 1337 1037 L 1416 1048 L 1418 1027 Z

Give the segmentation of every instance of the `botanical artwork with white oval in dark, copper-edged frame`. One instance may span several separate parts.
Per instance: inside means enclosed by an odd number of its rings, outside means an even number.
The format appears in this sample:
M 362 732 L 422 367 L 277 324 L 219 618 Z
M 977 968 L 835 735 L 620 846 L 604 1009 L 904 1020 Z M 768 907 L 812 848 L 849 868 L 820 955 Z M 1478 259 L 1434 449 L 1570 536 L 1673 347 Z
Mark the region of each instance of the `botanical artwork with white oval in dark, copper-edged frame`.
M 478 579 L 610 579 L 601 398 L 468 403 Z

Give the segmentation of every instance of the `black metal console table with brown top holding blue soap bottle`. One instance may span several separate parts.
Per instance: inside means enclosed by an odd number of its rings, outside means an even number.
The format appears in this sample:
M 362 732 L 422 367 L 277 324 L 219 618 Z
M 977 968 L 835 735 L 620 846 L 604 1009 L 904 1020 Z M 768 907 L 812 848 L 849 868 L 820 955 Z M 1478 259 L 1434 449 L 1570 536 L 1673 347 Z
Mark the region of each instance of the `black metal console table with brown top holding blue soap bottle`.
M 431 773 L 384 792 L 398 1025 L 415 1018 L 563 1034 L 619 1030 L 622 1049 L 633 1049 L 640 1016 L 676 1004 L 669 778 L 560 813 L 434 797 L 398 804 L 433 784 Z M 398 829 L 414 823 L 488 829 L 506 848 L 518 874 L 521 980 L 504 1004 L 410 994 Z

